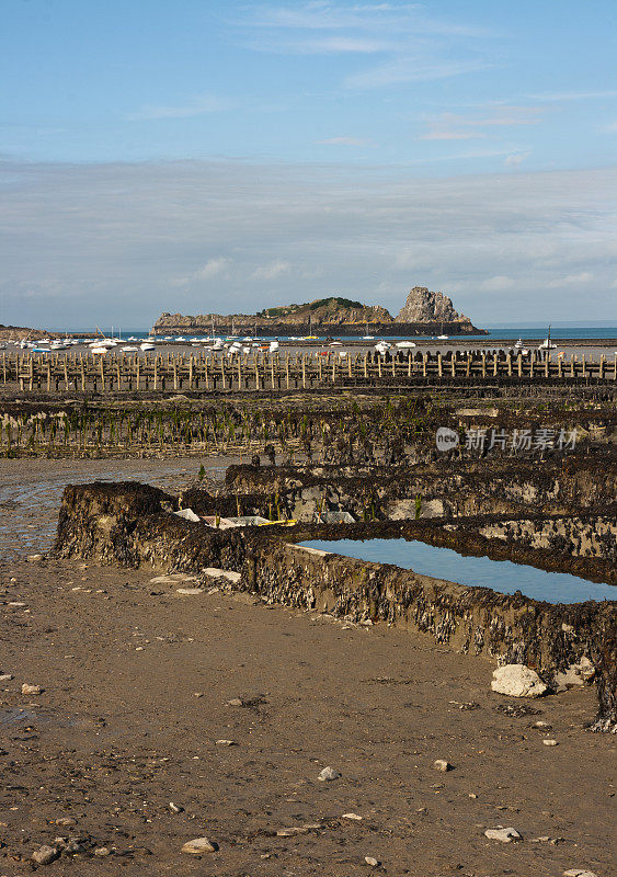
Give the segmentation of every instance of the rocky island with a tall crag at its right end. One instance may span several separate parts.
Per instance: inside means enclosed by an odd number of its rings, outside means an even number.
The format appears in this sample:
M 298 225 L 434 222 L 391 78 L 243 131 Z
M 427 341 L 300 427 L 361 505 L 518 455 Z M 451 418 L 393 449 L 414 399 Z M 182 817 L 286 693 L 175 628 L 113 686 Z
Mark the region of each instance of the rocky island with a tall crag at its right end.
M 258 314 L 162 314 L 152 334 L 267 334 L 267 335 L 464 335 L 484 334 L 469 317 L 455 310 L 452 298 L 414 286 L 397 315 L 379 305 L 363 305 L 340 296 L 304 305 L 282 305 Z

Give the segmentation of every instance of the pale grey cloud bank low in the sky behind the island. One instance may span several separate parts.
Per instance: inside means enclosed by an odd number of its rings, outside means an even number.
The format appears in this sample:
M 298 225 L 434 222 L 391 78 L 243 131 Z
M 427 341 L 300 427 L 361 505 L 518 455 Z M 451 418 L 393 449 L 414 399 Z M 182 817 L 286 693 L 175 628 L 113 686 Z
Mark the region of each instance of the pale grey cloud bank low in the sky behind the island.
M 327 294 L 478 323 L 615 319 L 616 170 L 414 179 L 405 168 L 4 162 L 0 322 L 147 327 Z

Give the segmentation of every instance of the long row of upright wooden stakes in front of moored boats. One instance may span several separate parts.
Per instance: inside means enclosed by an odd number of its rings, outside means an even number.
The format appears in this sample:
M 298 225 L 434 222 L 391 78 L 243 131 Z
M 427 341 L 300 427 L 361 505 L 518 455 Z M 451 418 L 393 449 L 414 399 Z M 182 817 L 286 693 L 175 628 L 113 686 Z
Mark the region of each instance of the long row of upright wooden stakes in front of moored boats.
M 81 392 L 135 390 L 264 390 L 312 388 L 332 384 L 366 384 L 392 378 L 599 378 L 617 379 L 617 355 L 580 358 L 547 354 L 523 356 L 512 353 L 464 356 L 397 352 L 339 352 L 321 354 L 254 354 L 228 358 L 217 354 L 115 355 L 95 357 L 83 354 L 3 354 L 0 378 L 3 385 L 18 384 L 21 391 L 46 390 Z

